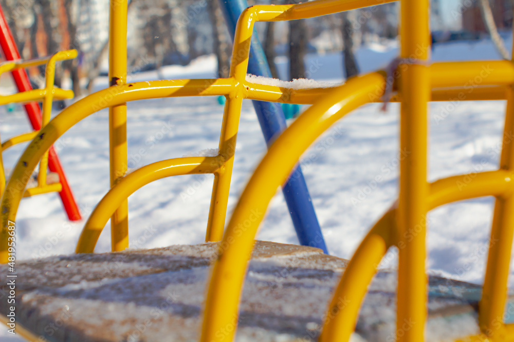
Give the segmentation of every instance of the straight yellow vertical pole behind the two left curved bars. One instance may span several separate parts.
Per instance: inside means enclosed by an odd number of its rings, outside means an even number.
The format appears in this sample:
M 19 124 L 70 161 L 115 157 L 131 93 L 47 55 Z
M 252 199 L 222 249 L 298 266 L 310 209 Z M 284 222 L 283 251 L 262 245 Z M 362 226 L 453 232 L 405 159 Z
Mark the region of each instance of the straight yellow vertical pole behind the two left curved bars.
M 127 0 L 111 0 L 109 18 L 109 81 L 111 86 L 126 83 Z M 109 160 L 111 187 L 127 171 L 126 103 L 109 108 Z M 128 247 L 128 203 L 125 200 L 111 217 L 113 251 Z

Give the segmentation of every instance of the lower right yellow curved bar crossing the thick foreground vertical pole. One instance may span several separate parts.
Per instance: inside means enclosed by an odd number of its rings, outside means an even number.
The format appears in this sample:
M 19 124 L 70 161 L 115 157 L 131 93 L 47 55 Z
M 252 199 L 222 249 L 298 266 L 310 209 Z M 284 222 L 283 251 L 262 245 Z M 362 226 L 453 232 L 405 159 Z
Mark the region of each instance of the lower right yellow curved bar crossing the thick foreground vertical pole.
M 512 176 L 512 172 L 497 170 L 438 179 L 429 185 L 429 210 L 458 200 L 510 194 L 514 181 Z M 320 342 L 347 341 L 350 338 L 376 265 L 390 246 L 398 244 L 395 237 L 398 233 L 397 215 L 397 209 L 384 214 L 350 259 L 328 307 Z M 341 300 L 345 306 L 340 310 L 334 309 Z

